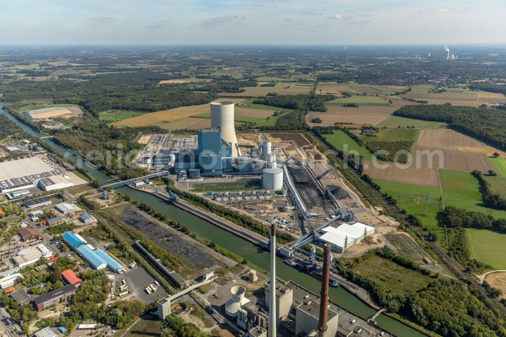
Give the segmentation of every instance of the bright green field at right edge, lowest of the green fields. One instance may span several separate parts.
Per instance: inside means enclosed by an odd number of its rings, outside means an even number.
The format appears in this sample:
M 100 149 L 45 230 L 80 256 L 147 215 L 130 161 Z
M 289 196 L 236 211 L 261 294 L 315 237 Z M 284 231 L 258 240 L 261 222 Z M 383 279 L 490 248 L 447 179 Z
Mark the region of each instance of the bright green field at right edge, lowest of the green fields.
M 506 270 L 506 234 L 467 228 L 471 257 L 497 270 Z

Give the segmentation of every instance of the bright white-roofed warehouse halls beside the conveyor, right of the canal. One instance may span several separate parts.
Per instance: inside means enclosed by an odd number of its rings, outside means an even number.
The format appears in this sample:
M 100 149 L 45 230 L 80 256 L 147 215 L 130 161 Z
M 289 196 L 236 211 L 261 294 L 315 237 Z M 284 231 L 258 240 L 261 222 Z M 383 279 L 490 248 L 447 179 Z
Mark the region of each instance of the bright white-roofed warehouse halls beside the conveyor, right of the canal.
M 322 229 L 320 241 L 330 244 L 332 251 L 343 253 L 346 249 L 373 233 L 374 227 L 360 222 L 353 225 L 342 224 L 338 228 L 326 227 Z

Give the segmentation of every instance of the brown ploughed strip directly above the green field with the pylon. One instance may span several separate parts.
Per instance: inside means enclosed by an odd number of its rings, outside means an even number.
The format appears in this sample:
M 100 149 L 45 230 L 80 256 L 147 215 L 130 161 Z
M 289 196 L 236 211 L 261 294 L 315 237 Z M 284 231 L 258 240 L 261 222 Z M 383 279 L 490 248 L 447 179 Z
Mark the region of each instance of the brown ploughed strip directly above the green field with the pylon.
M 374 180 L 382 180 L 393 183 L 402 183 L 409 185 L 416 185 L 426 187 L 439 187 L 439 178 L 437 168 L 416 168 L 415 165 L 410 165 L 408 168 L 399 168 L 392 162 L 377 161 L 377 166 L 373 164 L 372 160 L 364 159 L 364 174 L 367 174 Z M 389 165 L 388 168 L 384 165 Z

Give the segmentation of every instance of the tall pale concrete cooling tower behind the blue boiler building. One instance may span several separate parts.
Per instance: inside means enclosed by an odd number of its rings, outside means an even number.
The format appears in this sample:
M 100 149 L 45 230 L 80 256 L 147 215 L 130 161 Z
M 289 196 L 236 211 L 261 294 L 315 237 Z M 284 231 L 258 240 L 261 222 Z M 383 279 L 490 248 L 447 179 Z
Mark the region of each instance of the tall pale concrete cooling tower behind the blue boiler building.
M 234 126 L 234 102 L 211 102 L 211 128 L 220 128 L 222 138 L 232 146 L 232 156 L 237 157 L 237 137 Z

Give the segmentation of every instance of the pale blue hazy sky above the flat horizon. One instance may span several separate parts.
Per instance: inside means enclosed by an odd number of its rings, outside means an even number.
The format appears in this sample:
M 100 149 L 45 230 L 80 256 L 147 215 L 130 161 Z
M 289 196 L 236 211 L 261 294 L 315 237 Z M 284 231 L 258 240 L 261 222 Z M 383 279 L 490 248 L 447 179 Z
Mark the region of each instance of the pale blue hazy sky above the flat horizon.
M 506 43 L 504 0 L 0 0 L 2 45 Z

